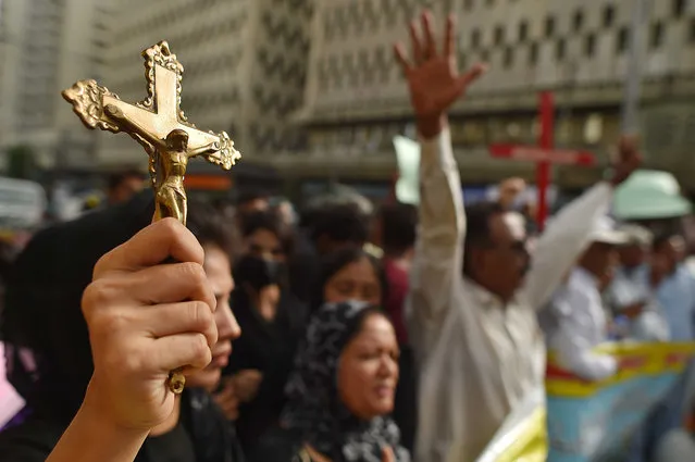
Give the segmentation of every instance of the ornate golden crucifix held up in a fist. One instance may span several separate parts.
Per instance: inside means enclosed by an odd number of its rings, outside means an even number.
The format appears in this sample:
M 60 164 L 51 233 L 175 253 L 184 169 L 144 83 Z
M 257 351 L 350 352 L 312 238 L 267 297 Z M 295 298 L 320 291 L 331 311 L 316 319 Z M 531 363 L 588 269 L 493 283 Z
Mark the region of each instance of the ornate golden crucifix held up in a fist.
M 87 128 L 127 133 L 149 155 L 154 189 L 154 220 L 172 216 L 186 224 L 187 204 L 184 175 L 188 159 L 202 157 L 231 170 L 241 154 L 229 136 L 203 132 L 186 120 L 181 110 L 183 65 L 161 41 L 142 51 L 148 97 L 135 104 L 121 99 L 95 80 L 79 80 L 63 91 L 63 98 Z M 185 386 L 181 371 L 173 371 L 169 387 L 181 394 Z

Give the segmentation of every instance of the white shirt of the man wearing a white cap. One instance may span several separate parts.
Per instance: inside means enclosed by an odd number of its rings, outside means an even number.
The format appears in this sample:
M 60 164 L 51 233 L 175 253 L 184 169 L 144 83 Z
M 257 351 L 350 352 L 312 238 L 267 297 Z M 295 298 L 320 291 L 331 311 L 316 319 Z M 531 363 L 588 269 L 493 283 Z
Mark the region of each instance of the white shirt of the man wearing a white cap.
M 618 371 L 616 359 L 592 351 L 607 340 L 608 328 L 596 277 L 584 269 L 574 269 L 553 309 L 558 327 L 549 334 L 548 346 L 557 353 L 558 363 L 587 380 L 613 375 Z

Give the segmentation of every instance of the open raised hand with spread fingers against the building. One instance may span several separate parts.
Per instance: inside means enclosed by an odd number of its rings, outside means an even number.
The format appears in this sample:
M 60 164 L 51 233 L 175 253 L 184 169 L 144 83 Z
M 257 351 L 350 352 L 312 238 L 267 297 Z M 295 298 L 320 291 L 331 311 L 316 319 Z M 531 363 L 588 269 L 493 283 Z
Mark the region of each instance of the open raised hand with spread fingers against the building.
M 484 64 L 476 64 L 467 73 L 458 70 L 456 57 L 456 25 L 454 16 L 449 16 L 443 49 L 437 50 L 433 32 L 432 13 L 425 11 L 421 15 L 422 34 L 418 32 L 418 22 L 410 23 L 412 42 L 412 60 L 401 43 L 394 50 L 400 62 L 408 86 L 410 100 L 418 118 L 418 126 L 425 137 L 434 136 L 442 129 L 443 117 L 454 102 L 466 95 L 468 87 L 486 70 Z

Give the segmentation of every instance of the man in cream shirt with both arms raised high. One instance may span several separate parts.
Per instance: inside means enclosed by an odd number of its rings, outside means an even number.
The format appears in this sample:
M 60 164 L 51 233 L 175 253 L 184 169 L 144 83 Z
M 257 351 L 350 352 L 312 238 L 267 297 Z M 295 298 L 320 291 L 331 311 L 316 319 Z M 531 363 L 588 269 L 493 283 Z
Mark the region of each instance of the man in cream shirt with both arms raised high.
M 411 60 L 396 47 L 422 138 L 420 229 L 408 303 L 421 374 L 415 460 L 470 462 L 514 405 L 543 387 L 545 345 L 535 310 L 584 249 L 612 186 L 640 159 L 632 143 L 621 145 L 611 183 L 595 186 L 559 214 L 525 275 L 530 261 L 518 220 L 489 205 L 467 223 L 446 113 L 485 67 L 459 74 L 454 20 L 444 52 L 432 22 L 423 14 L 422 37 L 411 24 Z

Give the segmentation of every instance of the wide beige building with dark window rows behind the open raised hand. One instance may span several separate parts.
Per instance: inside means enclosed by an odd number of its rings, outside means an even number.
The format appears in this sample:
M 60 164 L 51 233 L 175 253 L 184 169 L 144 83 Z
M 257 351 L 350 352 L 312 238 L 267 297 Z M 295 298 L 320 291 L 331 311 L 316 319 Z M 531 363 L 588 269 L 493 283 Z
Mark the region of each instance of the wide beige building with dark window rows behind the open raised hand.
M 392 43 L 408 42 L 406 25 L 425 7 L 439 25 L 447 12 L 456 14 L 461 67 L 489 64 L 488 74 L 451 115 L 467 183 L 531 175 L 532 165 L 491 159 L 487 146 L 536 142 L 541 90 L 555 93 L 556 145 L 589 149 L 607 162 L 620 135 L 634 1 L 319 1 L 305 107 L 295 114 L 309 132 L 308 149 L 277 162 L 298 174 L 385 178 L 394 172 L 393 136 L 415 134 Z M 690 152 L 695 141 L 695 2 L 648 3 L 640 130 L 648 164 L 688 171 L 695 166 Z M 559 172 L 562 183 L 576 186 L 597 175 L 582 168 Z

